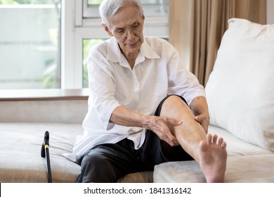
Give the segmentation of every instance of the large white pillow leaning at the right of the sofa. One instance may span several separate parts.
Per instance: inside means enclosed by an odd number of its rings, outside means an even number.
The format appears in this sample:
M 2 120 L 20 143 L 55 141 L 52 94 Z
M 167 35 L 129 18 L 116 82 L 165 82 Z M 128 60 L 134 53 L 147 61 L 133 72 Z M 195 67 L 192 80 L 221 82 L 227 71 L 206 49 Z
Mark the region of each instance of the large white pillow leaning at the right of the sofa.
M 274 25 L 228 24 L 206 86 L 210 123 L 274 151 Z

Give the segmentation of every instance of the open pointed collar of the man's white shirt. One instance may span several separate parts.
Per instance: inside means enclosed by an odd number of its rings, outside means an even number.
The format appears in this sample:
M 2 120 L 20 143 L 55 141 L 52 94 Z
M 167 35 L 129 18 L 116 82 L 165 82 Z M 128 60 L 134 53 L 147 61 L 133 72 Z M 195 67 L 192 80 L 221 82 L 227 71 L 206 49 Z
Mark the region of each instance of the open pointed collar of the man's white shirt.
M 112 61 L 113 63 L 122 63 L 124 56 L 122 55 L 119 44 L 115 37 L 111 37 L 109 43 L 107 44 L 107 60 Z M 144 61 L 145 58 L 160 58 L 160 56 L 153 51 L 153 49 L 148 45 L 146 39 L 144 39 L 141 49 L 138 53 L 136 61 Z

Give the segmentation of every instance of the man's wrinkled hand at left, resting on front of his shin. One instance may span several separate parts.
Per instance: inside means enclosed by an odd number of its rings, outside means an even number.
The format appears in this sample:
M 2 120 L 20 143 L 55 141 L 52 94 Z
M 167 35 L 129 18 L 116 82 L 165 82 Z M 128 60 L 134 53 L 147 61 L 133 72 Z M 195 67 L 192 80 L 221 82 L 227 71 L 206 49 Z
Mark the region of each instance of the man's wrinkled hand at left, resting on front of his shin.
M 170 146 L 178 146 L 178 140 L 169 129 L 169 126 L 178 126 L 182 121 L 177 121 L 169 117 L 148 116 L 148 125 L 145 127 L 152 132 L 155 132 L 159 139 L 166 141 Z

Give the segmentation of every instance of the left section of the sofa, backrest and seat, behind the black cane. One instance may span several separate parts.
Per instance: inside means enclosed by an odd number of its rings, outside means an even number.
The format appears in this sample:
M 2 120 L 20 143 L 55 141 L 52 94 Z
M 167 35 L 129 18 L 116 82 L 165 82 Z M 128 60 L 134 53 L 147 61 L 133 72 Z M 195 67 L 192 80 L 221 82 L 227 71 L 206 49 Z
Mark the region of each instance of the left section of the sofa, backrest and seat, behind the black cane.
M 53 183 L 74 182 L 80 166 L 67 160 L 88 110 L 87 89 L 0 91 L 0 182 L 48 182 L 41 157 L 45 132 Z M 15 93 L 14 93 L 15 92 Z M 152 172 L 126 175 L 118 182 L 152 182 Z

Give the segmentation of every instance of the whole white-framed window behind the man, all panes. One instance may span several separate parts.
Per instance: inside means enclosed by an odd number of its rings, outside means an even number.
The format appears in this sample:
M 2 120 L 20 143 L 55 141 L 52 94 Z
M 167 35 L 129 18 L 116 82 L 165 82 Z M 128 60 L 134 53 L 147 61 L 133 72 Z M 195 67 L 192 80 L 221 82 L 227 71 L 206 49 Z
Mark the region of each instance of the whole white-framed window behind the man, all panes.
M 0 89 L 88 87 L 89 49 L 109 38 L 101 27 L 100 2 L 0 0 Z M 168 1 L 142 3 L 144 35 L 167 39 Z

